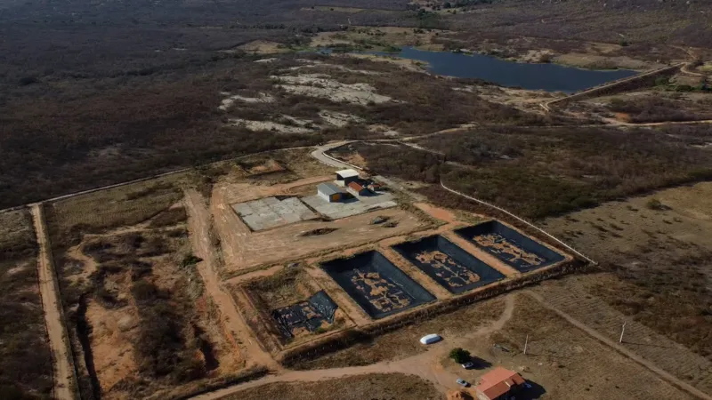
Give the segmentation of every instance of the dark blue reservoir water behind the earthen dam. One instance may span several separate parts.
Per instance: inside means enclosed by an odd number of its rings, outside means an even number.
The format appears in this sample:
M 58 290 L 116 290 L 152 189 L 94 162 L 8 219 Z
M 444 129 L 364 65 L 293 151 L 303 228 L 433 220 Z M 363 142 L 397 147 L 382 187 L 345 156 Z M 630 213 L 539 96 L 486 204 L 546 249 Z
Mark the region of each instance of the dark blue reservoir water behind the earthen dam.
M 525 64 L 481 54 L 426 52 L 412 47 L 403 47 L 401 52 L 369 52 L 369 54 L 425 61 L 429 64 L 427 69 L 430 72 L 442 76 L 478 78 L 502 86 L 547 92 L 578 92 L 637 74 L 627 69 L 593 70 L 563 67 L 557 64 Z

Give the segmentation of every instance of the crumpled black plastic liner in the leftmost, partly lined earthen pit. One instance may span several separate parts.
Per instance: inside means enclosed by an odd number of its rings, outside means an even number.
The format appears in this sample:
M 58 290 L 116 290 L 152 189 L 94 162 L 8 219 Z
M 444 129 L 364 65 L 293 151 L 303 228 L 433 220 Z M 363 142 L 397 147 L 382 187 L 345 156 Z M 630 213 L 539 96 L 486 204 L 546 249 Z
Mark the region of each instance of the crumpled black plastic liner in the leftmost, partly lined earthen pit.
M 336 303 L 324 291 L 316 292 L 306 301 L 272 311 L 279 332 L 286 338 L 293 338 L 296 329 L 305 328 L 309 332 L 319 329 L 324 322 L 334 324 Z

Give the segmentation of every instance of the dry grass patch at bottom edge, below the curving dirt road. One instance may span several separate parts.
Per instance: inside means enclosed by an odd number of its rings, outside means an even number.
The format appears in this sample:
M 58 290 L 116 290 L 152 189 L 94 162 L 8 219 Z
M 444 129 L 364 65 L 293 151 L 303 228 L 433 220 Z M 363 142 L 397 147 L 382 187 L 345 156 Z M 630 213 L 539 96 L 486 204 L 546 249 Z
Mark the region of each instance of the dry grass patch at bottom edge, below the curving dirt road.
M 339 398 L 341 400 L 441 400 L 432 383 L 413 375 L 401 373 L 369 374 L 319 382 L 272 383 L 249 388 L 224 400 L 312 400 Z

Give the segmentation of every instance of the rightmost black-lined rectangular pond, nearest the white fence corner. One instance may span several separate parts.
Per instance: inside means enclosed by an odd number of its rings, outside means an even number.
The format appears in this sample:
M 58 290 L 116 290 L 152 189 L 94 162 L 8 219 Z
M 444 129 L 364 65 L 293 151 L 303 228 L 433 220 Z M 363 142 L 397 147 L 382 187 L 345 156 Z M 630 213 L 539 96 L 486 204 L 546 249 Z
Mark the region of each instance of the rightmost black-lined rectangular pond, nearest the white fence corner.
M 564 260 L 559 252 L 554 252 L 497 220 L 459 228 L 455 233 L 520 272 L 529 272 Z

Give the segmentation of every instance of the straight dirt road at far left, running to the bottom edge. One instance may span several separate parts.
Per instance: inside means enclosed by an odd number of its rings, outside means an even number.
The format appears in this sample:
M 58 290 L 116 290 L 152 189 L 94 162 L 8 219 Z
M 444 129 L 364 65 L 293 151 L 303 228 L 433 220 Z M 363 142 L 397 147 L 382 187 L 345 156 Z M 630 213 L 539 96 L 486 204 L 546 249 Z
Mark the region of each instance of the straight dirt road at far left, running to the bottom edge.
M 71 353 L 67 348 L 69 339 L 65 336 L 63 325 L 63 312 L 61 310 L 60 293 L 54 284 L 54 262 L 47 230 L 44 225 L 44 212 L 42 204 L 32 204 L 32 220 L 35 223 L 37 245 L 37 273 L 39 276 L 39 291 L 44 309 L 44 323 L 47 325 L 47 336 L 53 355 L 54 370 L 54 398 L 58 400 L 72 400 L 72 380 L 74 368 L 70 362 Z

